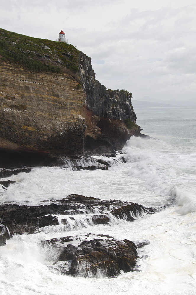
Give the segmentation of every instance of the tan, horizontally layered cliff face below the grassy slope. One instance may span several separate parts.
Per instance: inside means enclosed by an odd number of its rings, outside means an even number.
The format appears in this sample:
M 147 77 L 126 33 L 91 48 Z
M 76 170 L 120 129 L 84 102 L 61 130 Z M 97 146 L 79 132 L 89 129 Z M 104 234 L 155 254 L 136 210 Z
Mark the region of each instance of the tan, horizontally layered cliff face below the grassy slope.
M 85 119 L 83 90 L 66 74 L 30 73 L 0 65 L 1 146 L 17 150 L 82 153 Z

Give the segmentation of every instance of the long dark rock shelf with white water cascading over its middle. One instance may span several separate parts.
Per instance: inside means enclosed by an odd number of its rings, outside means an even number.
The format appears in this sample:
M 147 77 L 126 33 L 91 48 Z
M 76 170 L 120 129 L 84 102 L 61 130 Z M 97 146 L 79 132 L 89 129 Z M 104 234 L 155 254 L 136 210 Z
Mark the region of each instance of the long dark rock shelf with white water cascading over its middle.
M 73 215 L 87 214 L 85 222 L 93 225 L 110 224 L 114 217 L 133 221 L 134 217 L 154 212 L 154 209 L 131 202 L 100 200 L 79 194 L 69 195 L 48 205 L 5 204 L 0 206 L 1 223 L 7 226 L 12 234 L 33 233 L 41 227 L 59 225 L 58 215 L 65 216 L 61 219 L 61 224 L 69 228 L 71 220 L 71 226 L 84 226 L 80 218 L 75 219 Z

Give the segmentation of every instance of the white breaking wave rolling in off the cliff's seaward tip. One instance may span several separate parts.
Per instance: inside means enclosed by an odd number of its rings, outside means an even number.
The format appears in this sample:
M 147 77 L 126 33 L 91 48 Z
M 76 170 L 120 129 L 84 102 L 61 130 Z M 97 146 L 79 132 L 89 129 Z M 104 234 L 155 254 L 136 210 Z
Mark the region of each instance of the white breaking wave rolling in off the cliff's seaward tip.
M 189 156 L 172 153 L 173 147 L 156 139 L 131 137 L 124 147 L 126 159 L 131 163 L 127 174 L 140 178 L 155 194 L 176 198 L 182 208 L 179 212 L 187 214 L 196 210 L 195 173 L 190 166 Z M 184 160 L 184 163 L 182 162 Z M 183 163 L 183 166 L 181 166 Z M 191 159 L 191 164 L 196 158 Z M 189 174 L 185 174 L 189 172 Z M 187 185 L 184 183 L 187 181 Z M 191 185 L 192 191 L 189 189 Z M 194 190 L 194 191 L 193 191 Z

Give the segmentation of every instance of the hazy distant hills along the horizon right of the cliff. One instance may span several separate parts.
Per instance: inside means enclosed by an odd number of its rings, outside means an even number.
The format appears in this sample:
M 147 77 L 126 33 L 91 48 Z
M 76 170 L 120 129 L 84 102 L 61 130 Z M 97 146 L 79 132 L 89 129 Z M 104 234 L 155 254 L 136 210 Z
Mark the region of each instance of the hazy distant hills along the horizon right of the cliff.
M 171 107 L 171 106 L 196 106 L 196 98 L 186 100 L 159 100 L 150 96 L 132 100 L 133 107 Z

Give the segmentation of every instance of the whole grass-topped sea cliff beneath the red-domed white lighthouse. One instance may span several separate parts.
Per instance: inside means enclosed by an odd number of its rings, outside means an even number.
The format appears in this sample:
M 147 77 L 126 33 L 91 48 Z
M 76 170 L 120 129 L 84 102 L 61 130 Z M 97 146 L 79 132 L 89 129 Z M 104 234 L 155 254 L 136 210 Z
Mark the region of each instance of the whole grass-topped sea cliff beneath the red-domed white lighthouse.
M 1 149 L 74 155 L 140 134 L 132 94 L 96 81 L 73 45 L 3 29 L 0 38 Z

